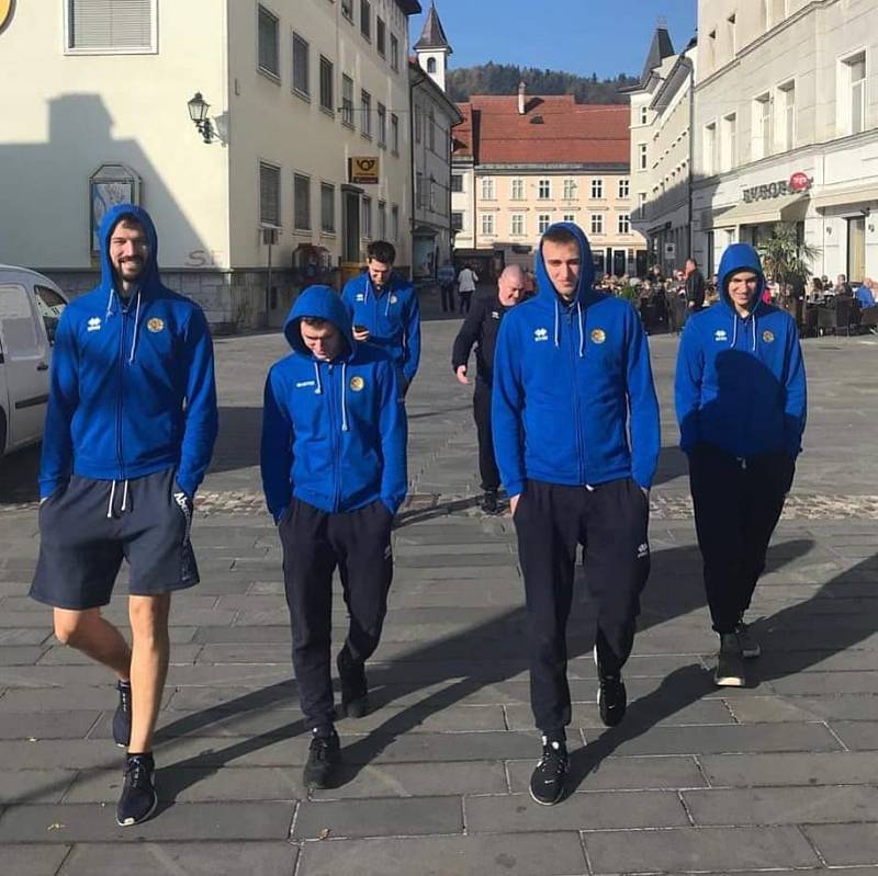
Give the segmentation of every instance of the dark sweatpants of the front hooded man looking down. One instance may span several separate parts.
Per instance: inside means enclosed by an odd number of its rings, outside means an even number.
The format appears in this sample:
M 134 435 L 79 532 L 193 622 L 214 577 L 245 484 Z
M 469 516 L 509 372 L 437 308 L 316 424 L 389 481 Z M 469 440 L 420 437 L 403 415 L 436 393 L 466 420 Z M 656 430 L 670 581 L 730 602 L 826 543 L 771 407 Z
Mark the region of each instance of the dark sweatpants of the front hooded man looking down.
M 335 718 L 330 630 L 333 572 L 341 578 L 350 627 L 345 649 L 353 665 L 378 648 L 393 579 L 393 517 L 378 500 L 330 514 L 293 499 L 279 530 L 283 583 L 293 630 L 293 669 L 308 727 L 327 729 Z

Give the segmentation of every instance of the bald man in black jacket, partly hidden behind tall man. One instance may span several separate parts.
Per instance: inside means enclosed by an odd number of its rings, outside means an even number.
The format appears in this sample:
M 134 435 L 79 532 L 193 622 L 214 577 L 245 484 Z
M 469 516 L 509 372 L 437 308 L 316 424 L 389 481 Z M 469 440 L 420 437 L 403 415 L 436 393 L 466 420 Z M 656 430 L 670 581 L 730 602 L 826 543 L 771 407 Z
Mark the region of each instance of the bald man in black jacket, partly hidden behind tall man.
M 473 416 L 479 433 L 479 471 L 482 476 L 482 510 L 487 514 L 497 512 L 497 490 L 500 476 L 494 458 L 494 441 L 491 434 L 491 387 L 494 372 L 494 344 L 503 315 L 515 307 L 525 295 L 527 277 L 517 265 L 504 270 L 497 281 L 497 294 L 480 296 L 466 314 L 451 353 L 451 367 L 464 386 L 471 383 L 466 376 L 466 363 L 475 344 L 475 393 Z

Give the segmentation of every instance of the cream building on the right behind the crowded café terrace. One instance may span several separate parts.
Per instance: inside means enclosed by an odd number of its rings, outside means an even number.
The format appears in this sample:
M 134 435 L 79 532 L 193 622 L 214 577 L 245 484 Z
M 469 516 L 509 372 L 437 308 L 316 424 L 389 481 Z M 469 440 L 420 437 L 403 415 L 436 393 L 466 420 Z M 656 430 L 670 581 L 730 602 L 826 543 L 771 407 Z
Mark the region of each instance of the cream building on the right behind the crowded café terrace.
M 733 241 L 795 223 L 813 273 L 878 274 L 878 3 L 700 0 L 694 239 L 709 271 Z

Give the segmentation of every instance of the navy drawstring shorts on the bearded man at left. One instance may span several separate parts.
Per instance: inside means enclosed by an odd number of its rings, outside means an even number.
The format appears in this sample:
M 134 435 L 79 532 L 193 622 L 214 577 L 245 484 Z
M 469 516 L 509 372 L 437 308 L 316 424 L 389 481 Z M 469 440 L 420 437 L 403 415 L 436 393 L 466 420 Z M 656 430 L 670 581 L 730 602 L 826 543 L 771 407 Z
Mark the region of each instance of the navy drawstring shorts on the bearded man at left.
M 40 505 L 31 596 L 57 608 L 106 605 L 123 559 L 133 596 L 192 587 L 199 571 L 191 523 L 192 503 L 173 469 L 115 483 L 74 475 Z

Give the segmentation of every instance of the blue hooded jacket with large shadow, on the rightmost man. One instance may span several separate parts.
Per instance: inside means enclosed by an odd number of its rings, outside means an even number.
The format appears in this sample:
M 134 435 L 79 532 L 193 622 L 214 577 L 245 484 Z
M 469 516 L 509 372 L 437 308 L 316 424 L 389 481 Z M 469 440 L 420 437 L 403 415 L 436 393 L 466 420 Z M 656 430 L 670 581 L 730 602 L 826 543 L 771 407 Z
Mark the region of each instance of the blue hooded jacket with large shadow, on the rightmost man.
M 729 278 L 742 270 L 759 277 L 746 319 L 729 298 Z M 765 275 L 753 247 L 729 247 L 717 277 L 720 303 L 689 318 L 677 353 L 680 447 L 691 453 L 706 442 L 741 458 L 777 452 L 795 458 L 807 413 L 796 322 L 762 300 Z

